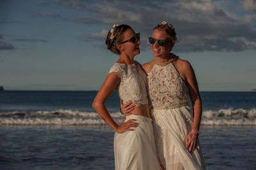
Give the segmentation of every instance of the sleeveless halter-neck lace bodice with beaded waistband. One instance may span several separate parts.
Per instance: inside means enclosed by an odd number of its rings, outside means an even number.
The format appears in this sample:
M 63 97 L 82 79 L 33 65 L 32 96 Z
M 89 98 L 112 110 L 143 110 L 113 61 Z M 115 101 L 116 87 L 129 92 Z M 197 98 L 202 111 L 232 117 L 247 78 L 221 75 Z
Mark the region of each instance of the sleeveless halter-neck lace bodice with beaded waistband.
M 154 109 L 188 105 L 188 87 L 172 62 L 164 66 L 155 64 L 148 73 L 148 97 Z

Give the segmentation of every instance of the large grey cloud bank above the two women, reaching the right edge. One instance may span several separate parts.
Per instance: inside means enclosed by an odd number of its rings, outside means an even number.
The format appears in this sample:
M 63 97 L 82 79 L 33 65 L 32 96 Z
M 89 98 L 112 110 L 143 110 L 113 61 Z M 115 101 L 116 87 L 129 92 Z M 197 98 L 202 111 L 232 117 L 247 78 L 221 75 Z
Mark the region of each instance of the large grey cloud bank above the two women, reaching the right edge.
M 70 17 L 81 24 L 129 24 L 141 36 L 150 36 L 152 29 L 162 20 L 173 24 L 181 39 L 175 50 L 196 52 L 203 50 L 241 51 L 256 49 L 256 1 L 244 0 L 244 8 L 234 8 L 234 1 L 73 1 L 56 0 L 57 4 L 81 10 L 86 16 Z M 240 1 L 237 1 L 239 6 Z M 245 9 L 245 10 L 244 10 Z M 244 10 L 244 11 L 241 11 Z M 83 36 L 104 40 L 103 33 Z M 100 39 L 101 38 L 101 39 Z M 146 39 L 146 38 L 145 38 Z

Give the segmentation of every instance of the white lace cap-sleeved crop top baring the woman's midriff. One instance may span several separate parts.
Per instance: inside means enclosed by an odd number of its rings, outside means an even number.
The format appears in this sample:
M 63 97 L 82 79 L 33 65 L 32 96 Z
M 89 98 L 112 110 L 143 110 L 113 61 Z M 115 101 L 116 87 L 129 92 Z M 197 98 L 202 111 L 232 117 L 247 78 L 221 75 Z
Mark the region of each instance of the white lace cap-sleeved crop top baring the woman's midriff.
M 134 61 L 132 65 L 115 63 L 108 73 L 112 72 L 117 73 L 121 79 L 116 91 L 124 104 L 129 100 L 132 100 L 135 105 L 148 104 L 147 76 L 138 61 Z

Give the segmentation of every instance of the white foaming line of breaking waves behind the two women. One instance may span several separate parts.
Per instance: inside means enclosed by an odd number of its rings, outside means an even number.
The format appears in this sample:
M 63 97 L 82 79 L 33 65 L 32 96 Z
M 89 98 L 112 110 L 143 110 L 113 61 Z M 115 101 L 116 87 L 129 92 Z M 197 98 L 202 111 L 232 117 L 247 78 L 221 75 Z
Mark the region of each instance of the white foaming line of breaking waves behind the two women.
M 120 112 L 111 112 L 112 118 L 121 123 L 125 118 Z M 0 125 L 105 125 L 96 112 L 57 110 L 33 112 L 0 112 Z M 201 125 L 256 125 L 256 109 L 208 110 L 202 114 Z

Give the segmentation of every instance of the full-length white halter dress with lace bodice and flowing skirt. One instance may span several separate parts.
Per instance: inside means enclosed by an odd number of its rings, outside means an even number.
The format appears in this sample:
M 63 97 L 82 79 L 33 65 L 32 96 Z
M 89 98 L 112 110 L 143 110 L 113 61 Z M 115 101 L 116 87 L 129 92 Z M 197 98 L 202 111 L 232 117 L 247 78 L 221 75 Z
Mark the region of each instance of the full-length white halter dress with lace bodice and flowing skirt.
M 164 66 L 155 64 L 148 73 L 148 97 L 161 164 L 168 170 L 205 169 L 199 141 L 192 154 L 184 144 L 193 112 L 188 105 L 188 87 L 171 62 Z

